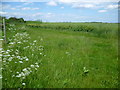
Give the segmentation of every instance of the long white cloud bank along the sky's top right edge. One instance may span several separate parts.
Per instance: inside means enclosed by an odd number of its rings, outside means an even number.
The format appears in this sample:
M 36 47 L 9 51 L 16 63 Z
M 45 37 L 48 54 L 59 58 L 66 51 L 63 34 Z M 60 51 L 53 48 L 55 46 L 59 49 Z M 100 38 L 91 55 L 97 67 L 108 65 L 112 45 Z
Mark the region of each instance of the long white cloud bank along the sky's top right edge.
M 118 3 L 119 0 L 55 0 L 58 4 L 68 4 L 72 8 L 116 8 L 116 5 L 106 6 L 107 3 Z

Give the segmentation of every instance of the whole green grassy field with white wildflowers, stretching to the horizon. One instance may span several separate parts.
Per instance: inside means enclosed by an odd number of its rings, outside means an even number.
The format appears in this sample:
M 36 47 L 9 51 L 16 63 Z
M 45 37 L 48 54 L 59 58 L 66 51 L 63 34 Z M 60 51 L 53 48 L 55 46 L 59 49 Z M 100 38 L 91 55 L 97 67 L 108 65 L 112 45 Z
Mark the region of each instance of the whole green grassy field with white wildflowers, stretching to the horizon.
M 118 87 L 117 24 L 10 24 L 3 88 Z

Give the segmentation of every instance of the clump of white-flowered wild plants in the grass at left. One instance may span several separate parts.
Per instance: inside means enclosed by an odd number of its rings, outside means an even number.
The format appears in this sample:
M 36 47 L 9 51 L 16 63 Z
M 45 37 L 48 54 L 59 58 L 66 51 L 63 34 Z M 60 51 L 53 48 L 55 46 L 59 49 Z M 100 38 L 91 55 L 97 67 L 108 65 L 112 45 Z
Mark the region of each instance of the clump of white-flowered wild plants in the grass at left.
M 32 41 L 26 32 L 17 33 L 9 39 L 7 49 L 2 51 L 3 87 L 12 86 L 13 82 L 15 87 L 25 86 L 25 79 L 36 74 L 41 58 L 46 56 L 43 51 L 44 47 L 37 40 Z

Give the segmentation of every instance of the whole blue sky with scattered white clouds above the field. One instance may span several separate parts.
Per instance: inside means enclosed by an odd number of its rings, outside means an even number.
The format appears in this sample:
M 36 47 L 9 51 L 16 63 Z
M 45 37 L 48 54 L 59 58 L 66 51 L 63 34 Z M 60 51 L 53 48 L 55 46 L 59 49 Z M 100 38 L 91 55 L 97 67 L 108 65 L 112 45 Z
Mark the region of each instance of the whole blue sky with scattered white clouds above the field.
M 119 0 L 4 0 L 0 15 L 44 22 L 118 22 Z

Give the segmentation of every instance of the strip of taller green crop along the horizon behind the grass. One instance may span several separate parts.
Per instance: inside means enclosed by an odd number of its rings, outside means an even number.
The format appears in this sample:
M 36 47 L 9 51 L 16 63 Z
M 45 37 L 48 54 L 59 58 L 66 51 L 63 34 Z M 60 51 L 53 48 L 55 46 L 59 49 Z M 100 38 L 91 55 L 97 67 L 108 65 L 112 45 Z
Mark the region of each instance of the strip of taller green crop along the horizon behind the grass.
M 118 24 L 111 23 L 39 23 L 27 22 L 27 26 L 42 29 L 89 32 L 96 37 L 117 38 Z

